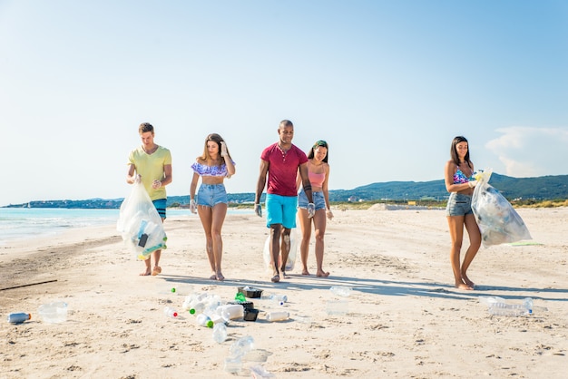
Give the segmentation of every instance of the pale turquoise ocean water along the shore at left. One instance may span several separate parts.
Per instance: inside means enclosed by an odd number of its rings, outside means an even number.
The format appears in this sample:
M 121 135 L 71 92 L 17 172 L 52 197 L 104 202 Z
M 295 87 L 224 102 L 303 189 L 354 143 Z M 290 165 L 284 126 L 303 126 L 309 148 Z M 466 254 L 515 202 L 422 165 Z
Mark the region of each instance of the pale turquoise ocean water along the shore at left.
M 253 213 L 230 209 L 228 214 Z M 0 208 L 0 246 L 15 239 L 47 237 L 71 228 L 116 224 L 119 209 Z M 197 217 L 190 209 L 168 209 L 168 217 Z

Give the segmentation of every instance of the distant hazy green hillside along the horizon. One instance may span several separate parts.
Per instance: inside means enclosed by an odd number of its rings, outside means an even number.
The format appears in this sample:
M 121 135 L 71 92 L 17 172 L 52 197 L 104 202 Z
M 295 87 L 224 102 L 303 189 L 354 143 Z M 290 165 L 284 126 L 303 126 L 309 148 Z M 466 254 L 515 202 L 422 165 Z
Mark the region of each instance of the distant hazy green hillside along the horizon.
M 504 197 L 512 199 L 568 199 L 568 175 L 544 176 L 537 178 L 512 178 L 494 173 L 489 183 L 501 191 Z M 329 201 L 359 200 L 444 200 L 448 196 L 444 180 L 431 181 L 387 181 L 357 187 L 354 190 L 330 190 Z M 264 197 L 264 195 L 263 195 Z M 235 203 L 254 201 L 254 193 L 230 193 L 229 200 Z M 42 200 L 6 206 L 7 208 L 82 208 L 118 209 L 122 199 L 86 200 Z M 190 203 L 189 195 L 170 196 L 168 207 L 184 206 Z

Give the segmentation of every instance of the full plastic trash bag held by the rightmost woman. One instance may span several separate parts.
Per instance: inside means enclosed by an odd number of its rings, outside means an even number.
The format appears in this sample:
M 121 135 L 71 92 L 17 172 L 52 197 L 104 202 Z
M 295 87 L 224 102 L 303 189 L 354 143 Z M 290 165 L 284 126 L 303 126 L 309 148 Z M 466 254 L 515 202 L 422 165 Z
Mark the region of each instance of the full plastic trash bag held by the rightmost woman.
M 489 184 L 492 170 L 475 174 L 479 183 L 472 197 L 472 210 L 485 248 L 532 239 L 523 219 L 504 196 Z

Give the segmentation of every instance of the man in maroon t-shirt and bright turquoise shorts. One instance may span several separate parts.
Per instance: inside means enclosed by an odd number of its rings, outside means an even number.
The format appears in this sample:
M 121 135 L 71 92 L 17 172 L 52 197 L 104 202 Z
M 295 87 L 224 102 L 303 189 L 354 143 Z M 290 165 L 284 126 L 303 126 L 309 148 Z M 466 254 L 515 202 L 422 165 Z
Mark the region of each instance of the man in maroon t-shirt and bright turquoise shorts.
M 280 281 L 286 277 L 286 261 L 290 249 L 290 229 L 296 228 L 296 211 L 298 208 L 298 189 L 296 176 L 302 180 L 304 191 L 308 196 L 308 216 L 312 217 L 316 211 L 311 197 L 311 185 L 308 180 L 308 157 L 304 151 L 292 144 L 294 125 L 292 121 L 283 120 L 279 124 L 279 141 L 271 144 L 260 154 L 260 175 L 257 183 L 257 192 L 254 198 L 254 211 L 262 217 L 260 196 L 267 185 L 266 195 L 266 225 L 270 228 L 270 264 L 272 265 L 271 281 Z M 280 236 L 282 236 L 280 253 Z M 279 259 L 280 258 L 280 259 Z M 280 265 L 279 265 L 280 261 Z

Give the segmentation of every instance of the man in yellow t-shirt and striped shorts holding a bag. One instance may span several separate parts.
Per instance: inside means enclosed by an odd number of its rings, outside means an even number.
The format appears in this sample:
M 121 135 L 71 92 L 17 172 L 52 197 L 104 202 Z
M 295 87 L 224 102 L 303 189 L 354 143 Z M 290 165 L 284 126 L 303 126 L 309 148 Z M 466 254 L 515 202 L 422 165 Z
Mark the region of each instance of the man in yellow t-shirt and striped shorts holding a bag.
M 126 182 L 132 184 L 136 180 L 142 180 L 163 222 L 166 219 L 165 186 L 171 183 L 171 153 L 168 149 L 154 143 L 154 128 L 150 123 L 142 123 L 138 132 L 142 139 L 142 146 L 131 151 L 128 156 Z M 152 252 L 153 269 L 152 258 L 148 258 L 144 260 L 145 269 L 140 275 L 160 274 L 162 272 L 162 267 L 159 266 L 161 254 L 162 250 Z

